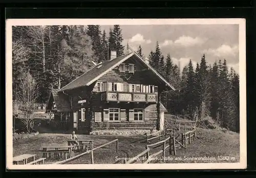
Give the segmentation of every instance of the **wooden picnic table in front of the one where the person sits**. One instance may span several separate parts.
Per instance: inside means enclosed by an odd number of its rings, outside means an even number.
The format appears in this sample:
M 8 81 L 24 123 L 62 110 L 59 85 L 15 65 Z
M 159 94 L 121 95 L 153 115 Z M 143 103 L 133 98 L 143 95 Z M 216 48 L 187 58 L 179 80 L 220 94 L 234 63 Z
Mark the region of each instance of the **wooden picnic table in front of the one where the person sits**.
M 54 159 L 60 159 L 62 157 L 62 153 L 65 154 L 65 159 L 67 159 L 67 154 L 69 154 L 69 158 L 72 158 L 75 156 L 73 148 L 74 146 L 63 146 L 63 145 L 57 145 L 57 146 L 42 146 L 42 157 L 43 158 L 51 158 L 51 154 L 54 154 Z M 48 154 L 48 157 L 47 157 Z

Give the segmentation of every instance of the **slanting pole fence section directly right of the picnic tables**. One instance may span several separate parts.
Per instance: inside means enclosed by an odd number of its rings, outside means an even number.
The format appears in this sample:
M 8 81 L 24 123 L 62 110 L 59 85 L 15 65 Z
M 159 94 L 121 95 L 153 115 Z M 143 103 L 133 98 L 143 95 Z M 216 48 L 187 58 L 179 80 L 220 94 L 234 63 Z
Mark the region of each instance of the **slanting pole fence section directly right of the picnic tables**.
M 105 143 L 105 144 L 103 144 L 103 145 L 100 145 L 100 146 L 98 146 L 98 147 L 96 147 L 96 148 L 93 148 L 92 150 L 88 150 L 88 151 L 86 151 L 86 152 L 83 152 L 83 153 L 81 153 L 81 154 L 78 154 L 78 155 L 76 155 L 76 156 L 73 157 L 73 158 L 69 158 L 69 159 L 67 159 L 67 160 L 55 162 L 55 163 L 53 163 L 53 164 L 64 164 L 64 163 L 73 161 L 73 160 L 75 160 L 75 159 L 77 159 L 77 158 L 80 158 L 82 155 L 88 154 L 88 153 L 91 153 L 91 164 L 94 164 L 94 155 L 93 155 L 93 151 L 95 151 L 96 149 L 102 148 L 102 147 L 104 147 L 104 146 L 106 146 L 106 145 L 109 145 L 109 144 L 111 144 L 111 143 L 113 143 L 113 142 L 116 142 L 116 152 L 118 153 L 118 139 L 115 139 L 115 140 L 112 140 L 112 141 L 110 141 L 110 142 L 108 142 L 108 143 Z

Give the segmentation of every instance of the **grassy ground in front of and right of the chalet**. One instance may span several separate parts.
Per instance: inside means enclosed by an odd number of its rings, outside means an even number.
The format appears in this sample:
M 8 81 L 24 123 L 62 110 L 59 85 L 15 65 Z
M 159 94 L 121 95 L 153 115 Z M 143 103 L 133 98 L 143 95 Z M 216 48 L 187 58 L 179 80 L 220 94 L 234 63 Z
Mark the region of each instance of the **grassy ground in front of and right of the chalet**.
M 181 127 L 182 128 L 182 127 Z M 123 161 L 117 161 L 116 158 L 132 158 L 145 150 L 146 143 L 143 143 L 141 139 L 143 136 L 89 136 L 78 135 L 79 139 L 94 140 L 94 147 L 100 146 L 104 143 L 118 139 L 119 152 L 116 153 L 116 145 L 112 143 L 106 147 L 99 148 L 94 151 L 94 163 L 95 164 L 120 164 Z M 39 135 L 28 138 L 13 141 L 13 156 L 31 153 L 36 154 L 37 158 L 41 157 L 41 146 L 50 145 L 67 145 L 67 140 L 70 139 L 70 135 L 60 133 L 39 133 Z M 163 138 L 164 139 L 164 138 Z M 139 141 L 141 140 L 141 141 Z M 159 141 L 158 139 L 152 140 L 151 143 Z M 160 150 L 161 147 L 151 150 L 151 154 Z M 80 154 L 80 153 L 76 153 Z M 239 162 L 239 134 L 235 132 L 224 133 L 217 129 L 198 129 L 197 139 L 187 145 L 187 148 L 181 148 L 177 150 L 177 155 L 169 155 L 168 150 L 165 156 L 173 158 L 172 161 L 166 161 L 165 163 L 218 163 L 218 162 Z M 202 158 L 202 157 L 214 157 L 215 160 L 185 160 L 187 158 Z M 228 161 L 219 160 L 218 156 L 228 156 Z M 159 154 L 161 157 L 161 154 Z M 231 157 L 234 159 L 231 160 Z M 175 160 L 176 159 L 176 160 Z M 52 163 L 47 161 L 46 164 Z M 82 157 L 70 161 L 67 164 L 90 164 L 90 154 L 83 155 Z M 141 163 L 139 161 L 138 163 Z M 151 163 L 162 163 L 161 161 L 152 161 Z

